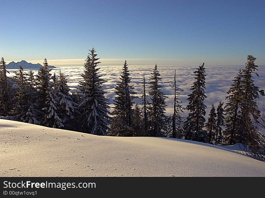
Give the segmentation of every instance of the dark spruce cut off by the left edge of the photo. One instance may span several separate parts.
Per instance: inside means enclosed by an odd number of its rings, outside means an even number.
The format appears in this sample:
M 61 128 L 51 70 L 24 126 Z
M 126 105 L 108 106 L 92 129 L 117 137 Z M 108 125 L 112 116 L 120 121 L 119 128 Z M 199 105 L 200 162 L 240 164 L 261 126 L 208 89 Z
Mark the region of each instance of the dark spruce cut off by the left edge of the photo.
M 6 70 L 5 65 L 5 60 L 2 57 L 0 61 L 0 115 L 2 116 L 10 115 L 14 98 L 11 80 L 6 75 L 9 72 Z

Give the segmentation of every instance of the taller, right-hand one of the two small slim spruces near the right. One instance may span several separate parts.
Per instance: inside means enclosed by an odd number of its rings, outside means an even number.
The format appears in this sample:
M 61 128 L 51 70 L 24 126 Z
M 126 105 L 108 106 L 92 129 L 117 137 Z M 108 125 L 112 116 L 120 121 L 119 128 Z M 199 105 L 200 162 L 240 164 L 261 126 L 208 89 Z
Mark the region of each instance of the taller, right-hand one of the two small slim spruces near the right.
M 223 116 L 223 102 L 220 101 L 217 106 L 217 120 L 216 120 L 216 132 L 215 132 L 215 145 L 222 144 L 223 142 L 223 133 L 222 126 L 224 125 L 224 116 Z

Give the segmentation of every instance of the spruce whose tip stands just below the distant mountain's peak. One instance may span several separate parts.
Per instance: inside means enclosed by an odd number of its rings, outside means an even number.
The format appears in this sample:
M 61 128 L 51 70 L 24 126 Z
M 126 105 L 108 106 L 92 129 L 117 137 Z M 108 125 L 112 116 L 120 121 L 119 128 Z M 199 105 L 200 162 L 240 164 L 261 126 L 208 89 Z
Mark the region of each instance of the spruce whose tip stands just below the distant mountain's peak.
M 29 85 L 27 74 L 23 72 L 22 65 L 19 66 L 19 71 L 14 71 L 14 85 L 16 95 L 16 106 L 13 110 L 13 119 L 17 121 L 23 120 L 23 116 L 29 107 Z

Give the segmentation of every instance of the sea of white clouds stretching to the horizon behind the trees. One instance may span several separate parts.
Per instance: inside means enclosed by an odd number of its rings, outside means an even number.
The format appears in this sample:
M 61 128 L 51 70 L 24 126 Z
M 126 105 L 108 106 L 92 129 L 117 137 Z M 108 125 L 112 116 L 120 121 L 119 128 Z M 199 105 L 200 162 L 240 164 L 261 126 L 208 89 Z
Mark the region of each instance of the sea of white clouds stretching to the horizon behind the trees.
M 128 60 L 129 63 L 129 60 Z M 108 91 L 108 99 L 110 100 L 111 106 L 113 106 L 113 99 L 115 97 L 114 93 L 114 86 L 116 85 L 117 81 L 119 80 L 120 74 L 122 72 L 123 66 L 100 66 L 100 73 L 103 75 L 105 80 L 108 80 L 107 83 L 104 84 L 104 89 Z M 173 89 L 169 86 L 168 83 L 173 80 L 174 78 L 174 70 L 176 69 L 176 78 L 177 80 L 181 81 L 178 86 L 182 88 L 184 91 L 180 93 L 180 99 L 183 101 L 183 106 L 186 106 L 188 101 L 186 100 L 188 97 L 187 95 L 190 94 L 190 87 L 194 82 L 194 74 L 193 72 L 196 70 L 198 66 L 160 66 L 158 65 L 158 70 L 161 73 L 162 82 L 161 85 L 164 85 L 163 91 L 168 96 L 166 99 L 167 102 L 167 115 L 172 114 L 173 112 Z M 205 99 L 204 103 L 207 105 L 206 108 L 206 117 L 210 112 L 211 104 L 213 103 L 217 108 L 218 102 L 222 100 L 225 102 L 226 92 L 229 90 L 229 87 L 234 80 L 239 68 L 244 68 L 245 66 L 239 65 L 229 65 L 229 66 L 213 66 L 213 65 L 206 65 L 206 95 L 208 98 Z M 141 89 L 142 83 L 142 75 L 146 75 L 146 80 L 148 82 L 150 74 L 154 65 L 129 65 L 129 70 L 132 77 L 132 85 L 135 86 L 135 91 L 139 94 Z M 68 84 L 72 91 L 76 90 L 78 87 L 78 82 L 83 80 L 81 77 L 81 73 L 83 72 L 83 67 L 61 67 L 61 68 L 53 68 L 53 72 L 58 74 L 59 70 L 64 72 L 65 76 L 69 79 Z M 258 67 L 259 77 L 254 77 L 255 85 L 258 86 L 260 89 L 265 90 L 265 66 Z M 13 71 L 16 70 L 8 70 L 10 71 L 9 75 L 14 75 Z M 37 72 L 37 71 L 35 71 Z M 265 97 L 260 97 L 260 107 L 263 106 L 263 102 L 265 101 Z M 139 100 L 136 99 L 136 102 Z M 185 112 L 185 115 L 187 112 Z

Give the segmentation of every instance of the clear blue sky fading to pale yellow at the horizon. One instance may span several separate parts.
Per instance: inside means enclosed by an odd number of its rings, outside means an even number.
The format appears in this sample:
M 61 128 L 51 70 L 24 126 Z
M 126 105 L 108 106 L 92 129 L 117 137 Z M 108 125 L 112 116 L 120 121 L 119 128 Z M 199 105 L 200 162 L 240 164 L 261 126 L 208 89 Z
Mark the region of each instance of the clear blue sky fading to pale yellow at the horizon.
M 102 64 L 265 64 L 265 1 L 1 0 L 0 56 Z

